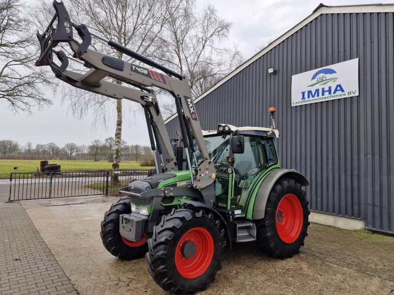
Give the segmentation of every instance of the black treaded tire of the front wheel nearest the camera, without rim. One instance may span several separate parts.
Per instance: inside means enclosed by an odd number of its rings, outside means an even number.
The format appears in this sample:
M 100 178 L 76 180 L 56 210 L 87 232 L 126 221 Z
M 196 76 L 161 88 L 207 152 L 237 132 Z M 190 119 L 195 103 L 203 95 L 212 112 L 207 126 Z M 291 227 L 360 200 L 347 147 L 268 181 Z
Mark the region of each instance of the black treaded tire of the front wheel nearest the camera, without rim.
M 213 254 L 210 251 L 203 252 L 204 254 L 210 252 L 211 254 L 208 255 L 212 255 L 212 260 L 201 270 L 202 274 L 187 278 L 178 271 L 175 255 L 183 255 L 177 250 L 180 239 L 197 228 L 209 233 L 213 240 Z M 195 294 L 198 290 L 204 290 L 215 279 L 216 272 L 222 268 L 223 248 L 226 246 L 224 235 L 225 231 L 220 221 L 211 212 L 198 208 L 173 209 L 170 214 L 162 218 L 160 224 L 154 228 L 152 238 L 148 240 L 149 252 L 146 253 L 146 258 L 151 276 L 160 287 L 173 294 Z M 198 248 L 197 246 L 197 251 Z M 207 261 L 206 256 L 200 257 L 203 258 L 199 261 Z M 197 254 L 196 258 L 199 258 Z

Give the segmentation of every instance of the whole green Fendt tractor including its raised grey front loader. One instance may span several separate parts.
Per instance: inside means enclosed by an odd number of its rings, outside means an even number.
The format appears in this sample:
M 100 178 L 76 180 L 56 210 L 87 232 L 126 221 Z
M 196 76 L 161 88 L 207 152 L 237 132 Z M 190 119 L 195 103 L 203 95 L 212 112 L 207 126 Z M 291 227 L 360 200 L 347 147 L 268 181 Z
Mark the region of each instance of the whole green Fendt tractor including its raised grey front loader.
M 298 253 L 309 225 L 302 190 L 309 182 L 294 169 L 280 168 L 275 109 L 269 109 L 270 128 L 218 124 L 202 131 L 186 77 L 73 23 L 62 1 L 53 6 L 50 24 L 37 32 L 41 54 L 35 65 L 50 66 L 73 87 L 139 103 L 155 154 L 157 173 L 122 188 L 128 196 L 105 213 L 104 247 L 124 260 L 146 255 L 156 283 L 176 294 L 205 289 L 232 243 L 255 241 L 264 253 L 282 259 Z M 92 37 L 134 63 L 89 49 Z M 62 50 L 66 45 L 72 57 Z M 69 60 L 84 70 L 68 70 Z M 173 95 L 178 141 L 169 139 L 151 87 Z

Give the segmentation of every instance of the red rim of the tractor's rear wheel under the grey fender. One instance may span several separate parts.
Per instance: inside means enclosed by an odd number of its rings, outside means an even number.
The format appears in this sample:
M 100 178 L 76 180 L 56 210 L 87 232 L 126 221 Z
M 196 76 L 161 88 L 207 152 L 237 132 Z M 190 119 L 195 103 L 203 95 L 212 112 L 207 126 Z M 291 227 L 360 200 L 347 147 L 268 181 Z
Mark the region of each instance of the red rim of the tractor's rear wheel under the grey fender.
M 301 233 L 304 213 L 294 194 L 285 195 L 276 209 L 276 231 L 282 241 L 293 243 Z

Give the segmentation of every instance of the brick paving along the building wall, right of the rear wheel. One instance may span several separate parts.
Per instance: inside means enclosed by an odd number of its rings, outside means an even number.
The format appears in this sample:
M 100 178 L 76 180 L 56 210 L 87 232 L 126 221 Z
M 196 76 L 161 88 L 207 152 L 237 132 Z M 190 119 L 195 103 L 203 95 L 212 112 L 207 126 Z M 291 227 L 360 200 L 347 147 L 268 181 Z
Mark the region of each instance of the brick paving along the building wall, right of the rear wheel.
M 394 282 L 394 237 L 311 224 L 301 251 Z

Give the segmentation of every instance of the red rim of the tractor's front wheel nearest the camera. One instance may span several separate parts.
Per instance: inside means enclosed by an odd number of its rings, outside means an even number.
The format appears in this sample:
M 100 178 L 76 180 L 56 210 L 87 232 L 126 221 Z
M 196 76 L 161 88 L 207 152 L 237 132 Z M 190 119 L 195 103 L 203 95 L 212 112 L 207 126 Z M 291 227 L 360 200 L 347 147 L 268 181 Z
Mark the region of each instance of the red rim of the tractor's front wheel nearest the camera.
M 186 252 L 186 245 L 193 250 Z M 213 238 L 206 229 L 197 227 L 187 231 L 175 249 L 175 266 L 179 274 L 188 279 L 202 275 L 211 264 L 213 250 Z

